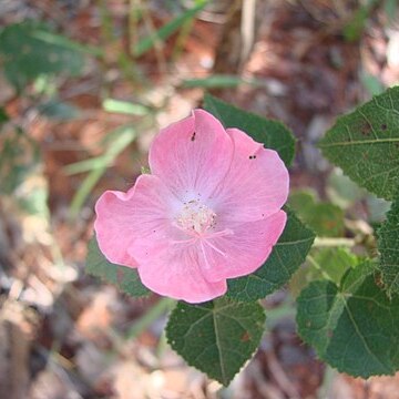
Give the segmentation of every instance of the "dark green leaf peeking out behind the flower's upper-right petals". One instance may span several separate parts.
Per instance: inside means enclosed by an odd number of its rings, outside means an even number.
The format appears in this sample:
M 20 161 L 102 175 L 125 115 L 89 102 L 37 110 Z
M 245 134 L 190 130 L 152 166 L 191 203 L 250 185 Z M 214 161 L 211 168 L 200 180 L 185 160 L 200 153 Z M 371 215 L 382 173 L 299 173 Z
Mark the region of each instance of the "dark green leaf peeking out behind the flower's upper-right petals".
M 205 109 L 222 121 L 225 127 L 241 129 L 267 149 L 276 150 L 287 166 L 291 164 L 295 139 L 283 123 L 237 109 L 211 94 L 205 94 L 204 100 Z

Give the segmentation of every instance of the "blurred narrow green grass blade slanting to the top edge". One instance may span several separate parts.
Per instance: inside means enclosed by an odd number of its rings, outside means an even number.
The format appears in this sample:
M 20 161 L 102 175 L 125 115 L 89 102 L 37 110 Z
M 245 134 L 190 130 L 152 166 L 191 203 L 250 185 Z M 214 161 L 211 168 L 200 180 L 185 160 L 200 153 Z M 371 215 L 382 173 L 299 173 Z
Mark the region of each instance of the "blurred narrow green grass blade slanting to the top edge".
M 207 1 L 201 1 L 198 6 L 195 6 L 187 11 L 181 13 L 171 22 L 165 23 L 158 30 L 140 40 L 137 45 L 133 50 L 134 55 L 143 55 L 149 50 L 151 50 L 157 41 L 165 41 L 168 37 L 176 32 L 186 21 L 193 19 L 206 4 Z

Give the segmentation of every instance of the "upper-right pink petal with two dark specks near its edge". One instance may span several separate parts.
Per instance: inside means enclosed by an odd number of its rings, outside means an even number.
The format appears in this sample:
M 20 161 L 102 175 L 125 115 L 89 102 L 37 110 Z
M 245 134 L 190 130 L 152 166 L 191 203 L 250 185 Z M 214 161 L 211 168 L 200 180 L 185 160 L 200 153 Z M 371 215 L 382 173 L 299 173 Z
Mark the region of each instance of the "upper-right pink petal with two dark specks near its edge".
M 214 193 L 214 211 L 231 222 L 253 222 L 278 212 L 287 201 L 288 171 L 277 152 L 266 150 L 238 129 L 227 129 L 234 142 L 228 174 Z

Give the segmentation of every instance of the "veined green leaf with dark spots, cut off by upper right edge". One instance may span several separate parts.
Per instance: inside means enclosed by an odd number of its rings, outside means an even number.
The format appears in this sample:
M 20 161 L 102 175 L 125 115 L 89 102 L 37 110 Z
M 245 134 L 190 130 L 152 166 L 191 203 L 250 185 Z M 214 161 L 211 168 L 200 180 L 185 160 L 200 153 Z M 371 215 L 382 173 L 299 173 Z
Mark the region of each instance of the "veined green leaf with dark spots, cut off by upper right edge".
M 399 185 L 399 86 L 339 117 L 319 146 L 354 182 L 393 200 Z

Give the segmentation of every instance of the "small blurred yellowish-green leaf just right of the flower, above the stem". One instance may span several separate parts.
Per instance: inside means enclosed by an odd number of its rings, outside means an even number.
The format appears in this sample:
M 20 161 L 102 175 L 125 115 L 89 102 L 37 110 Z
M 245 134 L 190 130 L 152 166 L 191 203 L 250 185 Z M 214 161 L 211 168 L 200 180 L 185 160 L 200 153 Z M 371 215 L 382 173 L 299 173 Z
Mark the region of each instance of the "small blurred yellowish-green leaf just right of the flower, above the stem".
M 319 236 L 342 236 L 344 212 L 339 206 L 317 202 L 316 195 L 309 191 L 293 192 L 289 195 L 289 205 Z

